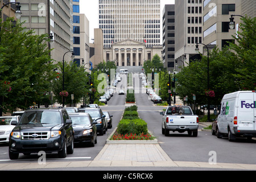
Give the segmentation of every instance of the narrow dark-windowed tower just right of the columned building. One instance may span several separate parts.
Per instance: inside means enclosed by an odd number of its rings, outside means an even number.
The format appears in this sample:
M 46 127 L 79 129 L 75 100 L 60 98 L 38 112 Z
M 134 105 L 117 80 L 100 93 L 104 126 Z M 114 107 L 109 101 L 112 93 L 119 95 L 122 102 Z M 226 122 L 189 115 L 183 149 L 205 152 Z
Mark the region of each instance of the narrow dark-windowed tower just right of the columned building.
M 163 64 L 167 71 L 175 69 L 175 5 L 165 5 L 163 10 Z

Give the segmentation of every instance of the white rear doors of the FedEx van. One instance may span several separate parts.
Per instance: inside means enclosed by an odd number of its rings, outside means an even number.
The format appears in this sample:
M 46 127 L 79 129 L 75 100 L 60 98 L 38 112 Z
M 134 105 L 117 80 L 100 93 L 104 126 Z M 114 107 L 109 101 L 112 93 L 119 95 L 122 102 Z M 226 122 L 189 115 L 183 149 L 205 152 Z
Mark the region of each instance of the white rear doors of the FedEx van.
M 239 94 L 237 107 L 238 130 L 256 130 L 255 98 L 254 92 L 241 92 Z

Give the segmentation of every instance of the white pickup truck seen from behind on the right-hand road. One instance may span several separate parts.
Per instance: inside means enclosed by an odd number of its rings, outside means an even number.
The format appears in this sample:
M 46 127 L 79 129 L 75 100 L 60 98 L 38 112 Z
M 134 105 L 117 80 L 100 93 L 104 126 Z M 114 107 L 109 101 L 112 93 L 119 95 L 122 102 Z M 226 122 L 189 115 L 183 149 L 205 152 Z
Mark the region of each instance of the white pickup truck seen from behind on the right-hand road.
M 184 133 L 188 131 L 188 135 L 197 137 L 199 118 L 193 114 L 189 106 L 168 106 L 163 115 L 162 134 L 168 136 L 170 131 L 178 131 Z

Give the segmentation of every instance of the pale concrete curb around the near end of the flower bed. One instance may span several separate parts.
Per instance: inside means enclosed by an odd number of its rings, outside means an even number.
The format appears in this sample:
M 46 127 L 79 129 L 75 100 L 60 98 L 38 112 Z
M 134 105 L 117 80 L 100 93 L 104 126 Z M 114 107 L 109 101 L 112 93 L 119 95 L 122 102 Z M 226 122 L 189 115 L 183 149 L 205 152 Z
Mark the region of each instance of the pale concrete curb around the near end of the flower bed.
M 110 138 L 112 137 L 112 135 L 114 135 L 116 130 L 117 130 L 117 127 L 115 127 L 112 134 L 110 134 L 109 138 L 106 139 L 106 144 L 158 144 L 158 139 L 154 139 L 154 140 L 110 140 Z M 148 131 L 148 133 L 150 133 L 150 132 Z

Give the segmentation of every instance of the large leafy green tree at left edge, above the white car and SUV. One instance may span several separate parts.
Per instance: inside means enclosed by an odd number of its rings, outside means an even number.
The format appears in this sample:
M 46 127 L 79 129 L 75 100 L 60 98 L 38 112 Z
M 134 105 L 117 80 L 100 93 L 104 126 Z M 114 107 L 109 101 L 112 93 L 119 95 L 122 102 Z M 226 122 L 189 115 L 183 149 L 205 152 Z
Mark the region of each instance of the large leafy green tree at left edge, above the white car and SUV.
M 0 84 L 7 82 L 11 90 L 0 89 L 0 105 L 4 112 L 17 107 L 26 109 L 39 102 L 49 91 L 52 60 L 47 46 L 48 34 L 25 31 L 22 23 L 0 19 Z M 2 112 L 1 112 L 2 114 Z

